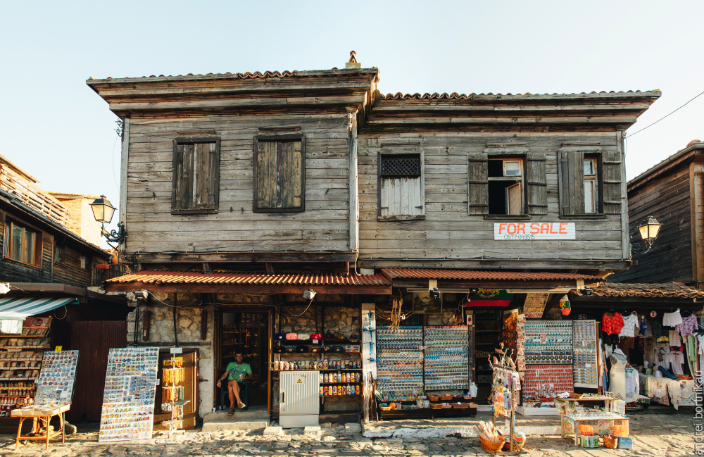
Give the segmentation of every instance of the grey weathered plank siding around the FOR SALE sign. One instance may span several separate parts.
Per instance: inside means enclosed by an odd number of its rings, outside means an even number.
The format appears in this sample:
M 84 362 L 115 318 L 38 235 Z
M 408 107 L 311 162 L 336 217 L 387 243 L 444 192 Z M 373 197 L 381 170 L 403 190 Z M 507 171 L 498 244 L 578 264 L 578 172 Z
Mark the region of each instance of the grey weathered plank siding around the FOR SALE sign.
M 359 135 L 360 260 L 426 259 L 451 266 L 458 259 L 562 259 L 621 261 L 620 214 L 601 218 L 560 218 L 557 151 L 565 142 L 589 141 L 604 154 L 617 151 L 615 133 L 582 134 L 471 134 L 426 132 Z M 425 159 L 425 220 L 389 222 L 377 220 L 377 156 L 384 144 L 415 144 Z M 469 156 L 484 154 L 488 143 L 525 144 L 529 159 L 545 157 L 547 209 L 531 215 L 529 222 L 574 222 L 575 240 L 494 241 L 494 223 L 501 220 L 469 214 L 467 163 Z M 541 168 L 543 165 L 540 165 Z M 471 177 L 469 177 L 471 180 Z M 543 184 L 536 177 L 529 179 Z M 470 184 L 472 185 L 472 184 Z M 529 196 L 529 206 L 542 206 Z M 469 209 L 468 209 L 469 208 Z M 543 212 L 536 211 L 536 212 Z M 503 219 L 505 220 L 505 219 Z M 510 217 L 508 218 L 510 219 Z M 517 220 L 517 219 L 513 219 Z

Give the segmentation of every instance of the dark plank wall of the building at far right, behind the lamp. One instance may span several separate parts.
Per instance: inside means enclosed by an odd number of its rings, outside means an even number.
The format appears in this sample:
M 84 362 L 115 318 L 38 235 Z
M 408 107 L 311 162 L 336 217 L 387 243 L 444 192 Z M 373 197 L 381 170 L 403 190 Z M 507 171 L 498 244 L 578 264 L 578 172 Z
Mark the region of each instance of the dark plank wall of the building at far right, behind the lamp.
M 636 225 L 649 215 L 662 227 L 648 253 L 633 255 L 638 265 L 609 277 L 610 282 L 693 281 L 689 179 L 690 171 L 685 166 L 629 195 L 633 242 L 640 241 Z

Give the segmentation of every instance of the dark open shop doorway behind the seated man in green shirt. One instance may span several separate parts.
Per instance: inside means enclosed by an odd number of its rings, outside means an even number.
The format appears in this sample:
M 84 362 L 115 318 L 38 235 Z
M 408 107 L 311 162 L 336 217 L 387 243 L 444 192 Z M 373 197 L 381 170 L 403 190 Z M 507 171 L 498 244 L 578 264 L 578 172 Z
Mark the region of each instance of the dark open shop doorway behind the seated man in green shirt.
M 248 406 L 267 406 L 271 339 L 269 313 L 223 311 L 220 318 L 220 335 L 218 379 L 224 373 L 227 364 L 235 362 L 235 353 L 243 353 L 244 363 L 249 363 L 254 375 L 247 386 Z M 220 392 L 218 392 L 217 401 L 220 401 Z M 225 394 L 225 403 L 225 409 L 227 409 L 229 404 L 227 394 Z

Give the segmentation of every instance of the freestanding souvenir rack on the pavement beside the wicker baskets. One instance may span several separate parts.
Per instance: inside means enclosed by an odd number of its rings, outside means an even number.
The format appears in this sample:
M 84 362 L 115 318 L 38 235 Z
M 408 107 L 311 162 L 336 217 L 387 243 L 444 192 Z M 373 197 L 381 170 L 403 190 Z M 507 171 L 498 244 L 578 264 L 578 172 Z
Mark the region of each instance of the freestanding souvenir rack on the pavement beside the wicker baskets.
M 515 415 L 520 392 L 520 378 L 518 372 L 505 365 L 494 365 L 494 375 L 491 380 L 491 390 L 494 395 L 494 413 L 491 422 L 496 427 L 496 416 L 508 420 L 509 451 L 497 452 L 503 455 L 518 455 L 527 453 L 522 444 L 515 439 Z

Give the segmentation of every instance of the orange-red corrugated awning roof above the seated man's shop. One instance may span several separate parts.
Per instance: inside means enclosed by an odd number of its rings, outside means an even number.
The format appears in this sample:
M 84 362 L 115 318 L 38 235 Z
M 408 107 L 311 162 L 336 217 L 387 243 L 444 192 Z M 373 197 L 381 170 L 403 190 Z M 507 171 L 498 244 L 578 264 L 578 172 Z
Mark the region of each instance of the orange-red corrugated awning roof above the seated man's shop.
M 132 275 L 114 277 L 106 282 L 142 282 L 144 284 L 296 284 L 388 286 L 391 282 L 384 275 L 266 275 L 260 273 L 196 273 L 182 271 L 142 270 Z

